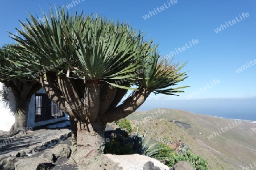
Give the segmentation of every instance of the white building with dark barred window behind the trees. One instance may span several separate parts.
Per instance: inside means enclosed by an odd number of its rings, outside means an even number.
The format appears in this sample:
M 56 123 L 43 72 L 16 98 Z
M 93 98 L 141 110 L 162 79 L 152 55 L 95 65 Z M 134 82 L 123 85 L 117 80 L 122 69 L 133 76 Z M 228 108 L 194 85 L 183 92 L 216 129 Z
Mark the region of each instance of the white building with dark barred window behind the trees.
M 0 130 L 9 131 L 15 122 L 13 109 L 15 108 L 14 95 L 0 83 Z M 27 127 L 49 125 L 58 128 L 69 125 L 68 115 L 61 111 L 55 103 L 48 99 L 46 92 L 41 88 L 30 100 L 27 117 Z M 61 124 L 57 124 L 61 122 Z

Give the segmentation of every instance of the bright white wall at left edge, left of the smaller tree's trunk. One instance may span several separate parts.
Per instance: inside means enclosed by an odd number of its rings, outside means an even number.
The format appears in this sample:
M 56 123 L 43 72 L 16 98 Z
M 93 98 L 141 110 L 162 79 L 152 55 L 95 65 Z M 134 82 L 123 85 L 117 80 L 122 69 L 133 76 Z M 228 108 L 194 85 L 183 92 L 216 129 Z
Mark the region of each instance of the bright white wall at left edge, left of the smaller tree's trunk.
M 15 122 L 15 117 L 10 108 L 15 108 L 15 98 L 11 92 L 7 93 L 7 103 L 2 100 L 3 84 L 0 83 L 0 130 L 9 131 Z

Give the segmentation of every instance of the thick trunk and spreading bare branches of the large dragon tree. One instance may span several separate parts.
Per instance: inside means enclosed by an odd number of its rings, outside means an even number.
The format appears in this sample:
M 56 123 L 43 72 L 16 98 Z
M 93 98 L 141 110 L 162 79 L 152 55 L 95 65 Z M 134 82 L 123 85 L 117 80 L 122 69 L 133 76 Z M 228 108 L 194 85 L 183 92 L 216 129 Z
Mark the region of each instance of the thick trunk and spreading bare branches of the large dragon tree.
M 80 169 L 91 169 L 89 165 L 98 165 L 98 162 L 102 165 L 106 123 L 133 113 L 150 95 L 149 90 L 138 88 L 118 105 L 127 90 L 109 88 L 99 80 L 85 80 L 78 86 L 75 80 L 47 73 L 41 77 L 41 83 L 49 98 L 70 116 L 72 155 L 69 162 L 76 163 Z

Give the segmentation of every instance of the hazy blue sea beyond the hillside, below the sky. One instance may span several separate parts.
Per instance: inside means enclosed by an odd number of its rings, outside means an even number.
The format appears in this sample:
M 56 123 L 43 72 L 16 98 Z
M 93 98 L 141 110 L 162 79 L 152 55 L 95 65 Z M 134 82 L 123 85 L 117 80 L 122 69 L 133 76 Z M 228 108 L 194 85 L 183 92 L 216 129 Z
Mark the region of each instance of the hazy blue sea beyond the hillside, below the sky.
M 149 99 L 138 111 L 154 108 L 180 109 L 210 116 L 256 121 L 256 97 L 157 101 Z

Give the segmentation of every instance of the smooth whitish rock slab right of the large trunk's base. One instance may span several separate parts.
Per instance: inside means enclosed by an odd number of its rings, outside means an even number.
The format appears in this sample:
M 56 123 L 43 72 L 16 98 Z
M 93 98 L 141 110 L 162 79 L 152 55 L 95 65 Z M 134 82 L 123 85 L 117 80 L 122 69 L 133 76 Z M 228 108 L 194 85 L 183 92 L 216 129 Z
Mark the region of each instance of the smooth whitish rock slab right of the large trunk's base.
M 105 154 L 110 160 L 118 164 L 118 168 L 123 170 L 128 169 L 143 169 L 144 164 L 147 162 L 154 163 L 155 167 L 159 167 L 161 170 L 170 169 L 167 165 L 159 162 L 159 160 L 150 158 L 145 155 L 133 154 L 133 155 L 111 155 Z

